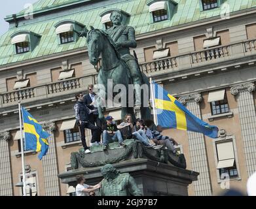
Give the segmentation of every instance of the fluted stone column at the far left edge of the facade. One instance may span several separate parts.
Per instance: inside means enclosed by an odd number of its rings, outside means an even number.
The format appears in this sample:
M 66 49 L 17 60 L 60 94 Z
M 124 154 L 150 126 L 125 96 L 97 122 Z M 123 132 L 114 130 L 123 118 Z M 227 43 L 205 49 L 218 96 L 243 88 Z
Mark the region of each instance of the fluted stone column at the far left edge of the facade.
M 12 170 L 10 169 L 9 132 L 0 132 L 0 196 L 12 196 Z

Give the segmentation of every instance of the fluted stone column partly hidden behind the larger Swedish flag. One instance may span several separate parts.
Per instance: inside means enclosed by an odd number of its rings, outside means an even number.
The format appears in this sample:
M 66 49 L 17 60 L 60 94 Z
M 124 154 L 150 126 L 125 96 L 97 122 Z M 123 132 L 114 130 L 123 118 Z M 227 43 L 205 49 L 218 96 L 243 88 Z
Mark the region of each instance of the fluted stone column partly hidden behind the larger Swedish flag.
M 202 96 L 198 93 L 179 98 L 179 102 L 182 105 L 186 105 L 187 109 L 194 114 L 194 116 L 202 119 L 199 105 L 200 101 L 202 101 Z M 191 155 L 191 168 L 196 172 L 200 172 L 198 181 L 193 182 L 194 193 L 197 196 L 212 195 L 204 135 L 191 131 L 188 131 L 187 135 Z

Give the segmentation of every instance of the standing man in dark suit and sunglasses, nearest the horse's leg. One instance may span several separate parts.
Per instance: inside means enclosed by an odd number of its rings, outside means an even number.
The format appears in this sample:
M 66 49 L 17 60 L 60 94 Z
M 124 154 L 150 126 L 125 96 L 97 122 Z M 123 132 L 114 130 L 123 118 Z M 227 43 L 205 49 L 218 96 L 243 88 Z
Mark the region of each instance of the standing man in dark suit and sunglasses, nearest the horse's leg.
M 90 110 L 94 110 L 91 114 L 89 114 L 89 121 L 93 125 L 96 125 L 97 127 L 101 127 L 101 121 L 99 119 L 99 114 L 98 114 L 98 109 L 95 105 L 95 100 L 96 100 L 96 93 L 94 93 L 94 85 L 90 84 L 88 85 L 88 91 L 89 93 L 84 95 L 82 98 L 84 101 L 84 105 L 88 106 Z M 94 129 L 92 131 L 92 140 L 91 140 L 91 145 L 93 144 L 100 144 L 100 137 L 101 137 L 101 132 L 97 132 L 97 134 L 94 134 Z

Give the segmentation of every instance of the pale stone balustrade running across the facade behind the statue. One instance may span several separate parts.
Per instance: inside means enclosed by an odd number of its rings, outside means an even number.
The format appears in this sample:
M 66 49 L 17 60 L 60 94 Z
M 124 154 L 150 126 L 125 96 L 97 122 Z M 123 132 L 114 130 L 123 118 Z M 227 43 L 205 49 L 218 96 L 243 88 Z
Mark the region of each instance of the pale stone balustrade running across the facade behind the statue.
M 192 67 L 209 65 L 210 63 L 220 63 L 227 59 L 238 59 L 251 54 L 256 54 L 256 39 L 236 42 L 227 46 L 216 46 L 210 49 L 181 54 L 176 57 L 164 57 L 155 61 L 140 63 L 141 71 L 149 75 L 151 73 L 161 74 L 165 72 L 183 71 Z M 98 63 L 96 69 L 100 69 Z M 29 99 L 39 100 L 58 95 L 70 94 L 87 89 L 88 84 L 96 84 L 97 74 L 82 76 L 80 78 L 70 78 L 50 84 L 35 86 L 31 88 L 18 89 L 0 94 L 0 107 L 16 105 L 18 101 L 29 101 Z

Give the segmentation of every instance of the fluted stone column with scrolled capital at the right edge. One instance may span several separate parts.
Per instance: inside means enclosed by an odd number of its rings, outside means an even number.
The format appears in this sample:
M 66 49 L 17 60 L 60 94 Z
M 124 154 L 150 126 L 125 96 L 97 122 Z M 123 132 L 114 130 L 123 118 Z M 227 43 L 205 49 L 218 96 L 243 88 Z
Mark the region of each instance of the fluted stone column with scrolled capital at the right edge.
M 236 95 L 238 103 L 248 177 L 256 170 L 256 113 L 253 101 L 254 90 L 255 85 L 253 83 L 241 84 L 231 88 L 231 93 L 232 95 Z

